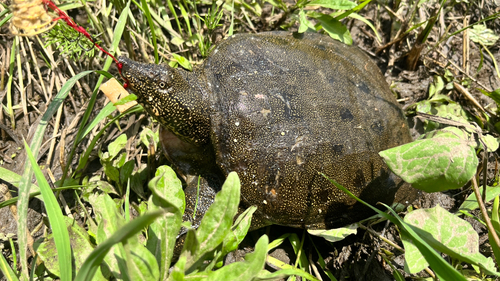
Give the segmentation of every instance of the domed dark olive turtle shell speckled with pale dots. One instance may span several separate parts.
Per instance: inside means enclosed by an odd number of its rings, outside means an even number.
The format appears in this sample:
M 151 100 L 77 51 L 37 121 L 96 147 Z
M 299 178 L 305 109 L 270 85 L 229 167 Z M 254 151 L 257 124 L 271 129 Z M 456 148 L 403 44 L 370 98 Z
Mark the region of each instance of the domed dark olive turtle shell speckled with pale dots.
M 322 174 L 375 204 L 415 192 L 378 152 L 410 142 L 379 68 L 328 36 L 235 35 L 205 61 L 216 164 L 241 180 L 241 204 L 263 223 L 329 228 L 367 216 Z

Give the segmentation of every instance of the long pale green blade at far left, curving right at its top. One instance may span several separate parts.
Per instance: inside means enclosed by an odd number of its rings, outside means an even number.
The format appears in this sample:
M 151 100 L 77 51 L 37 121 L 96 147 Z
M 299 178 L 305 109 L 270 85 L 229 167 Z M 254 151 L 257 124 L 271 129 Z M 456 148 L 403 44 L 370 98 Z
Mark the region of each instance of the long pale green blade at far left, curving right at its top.
M 78 81 L 83 76 L 91 73 L 92 71 L 84 71 L 79 73 L 69 79 L 61 88 L 57 96 L 54 100 L 49 104 L 47 111 L 42 116 L 42 120 L 38 125 L 35 134 L 33 135 L 33 140 L 31 141 L 31 151 L 34 151 L 33 158 L 37 158 L 38 151 L 40 150 L 40 146 L 42 144 L 43 135 L 45 133 L 45 129 L 47 128 L 47 124 L 57 111 L 59 106 L 62 104 L 64 99 L 68 96 L 69 90 L 75 85 L 76 81 Z M 31 178 L 33 177 L 33 167 L 27 161 L 24 164 L 24 172 L 21 177 L 21 181 L 19 182 L 19 201 L 17 202 L 17 215 L 19 217 L 17 235 L 18 235 L 18 245 L 19 245 L 19 260 L 21 262 L 21 266 L 23 267 L 21 279 L 25 280 L 28 278 L 28 262 L 26 260 L 26 247 L 27 247 L 27 238 L 26 238 L 26 220 L 28 215 L 28 201 L 31 189 Z

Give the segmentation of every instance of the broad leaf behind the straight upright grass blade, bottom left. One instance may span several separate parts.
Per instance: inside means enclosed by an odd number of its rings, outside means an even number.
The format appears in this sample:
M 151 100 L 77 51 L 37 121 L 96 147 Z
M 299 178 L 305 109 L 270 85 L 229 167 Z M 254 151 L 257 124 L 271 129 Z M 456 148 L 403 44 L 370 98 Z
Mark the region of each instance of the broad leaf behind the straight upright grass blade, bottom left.
M 90 243 L 90 238 L 78 223 L 69 218 L 64 217 L 68 228 L 71 249 L 73 251 L 73 271 L 78 272 L 82 267 L 83 262 L 90 255 L 94 246 Z M 52 234 L 47 236 L 47 239 L 40 244 L 37 249 L 38 257 L 43 261 L 45 267 L 54 275 L 59 276 L 59 256 L 54 243 Z M 93 280 L 107 280 L 101 273 L 101 269 L 97 269 L 97 274 Z

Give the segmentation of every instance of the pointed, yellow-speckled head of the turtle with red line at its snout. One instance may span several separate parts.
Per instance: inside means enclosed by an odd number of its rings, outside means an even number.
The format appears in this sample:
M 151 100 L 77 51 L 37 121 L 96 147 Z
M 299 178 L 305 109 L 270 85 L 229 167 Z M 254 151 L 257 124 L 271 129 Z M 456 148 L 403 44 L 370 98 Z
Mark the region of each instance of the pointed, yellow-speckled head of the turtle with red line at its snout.
M 195 79 L 187 79 L 191 73 L 126 57 L 118 61 L 130 90 L 153 118 L 183 141 L 199 145 L 209 141 L 207 106 L 199 87 L 190 85 Z

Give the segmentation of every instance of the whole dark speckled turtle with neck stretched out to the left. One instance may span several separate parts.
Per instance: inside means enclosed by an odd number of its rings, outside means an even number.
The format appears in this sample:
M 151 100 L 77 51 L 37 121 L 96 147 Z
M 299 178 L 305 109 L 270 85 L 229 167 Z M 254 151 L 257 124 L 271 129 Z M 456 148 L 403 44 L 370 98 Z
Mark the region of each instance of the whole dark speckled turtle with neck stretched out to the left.
M 161 125 L 164 153 L 185 184 L 184 219 L 195 226 L 232 171 L 240 208 L 257 206 L 252 229 L 329 229 L 371 214 L 323 175 L 370 204 L 416 197 L 378 155 L 412 140 L 405 115 L 355 46 L 264 32 L 223 40 L 192 72 L 119 62 L 129 90 Z

